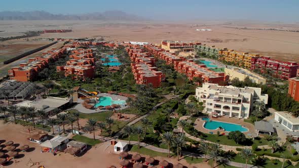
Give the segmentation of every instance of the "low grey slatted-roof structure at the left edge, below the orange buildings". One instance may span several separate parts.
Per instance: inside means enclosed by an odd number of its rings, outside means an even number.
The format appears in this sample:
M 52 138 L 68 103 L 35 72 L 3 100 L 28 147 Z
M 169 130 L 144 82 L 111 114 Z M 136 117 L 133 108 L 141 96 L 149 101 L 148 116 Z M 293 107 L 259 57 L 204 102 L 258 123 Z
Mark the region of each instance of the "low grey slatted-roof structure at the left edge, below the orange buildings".
M 24 101 L 35 93 L 35 84 L 32 82 L 22 82 L 7 80 L 0 84 L 0 101 Z M 10 93 L 7 97 L 5 93 Z

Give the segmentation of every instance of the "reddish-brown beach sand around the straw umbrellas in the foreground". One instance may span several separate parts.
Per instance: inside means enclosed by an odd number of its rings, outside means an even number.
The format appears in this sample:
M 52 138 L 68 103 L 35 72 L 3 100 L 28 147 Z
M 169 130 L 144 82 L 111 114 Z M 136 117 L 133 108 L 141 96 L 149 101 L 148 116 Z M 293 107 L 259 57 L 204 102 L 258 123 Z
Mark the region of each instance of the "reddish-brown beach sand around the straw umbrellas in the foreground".
M 16 159 L 13 159 L 5 167 L 29 167 L 26 164 L 29 159 L 33 162 L 40 162 L 39 165 L 44 165 L 46 168 L 54 167 L 107 167 L 109 165 L 116 165 L 119 167 L 119 156 L 113 151 L 113 146 L 109 145 L 110 142 L 102 143 L 96 147 L 89 149 L 83 156 L 74 157 L 67 153 L 59 153 L 56 156 L 50 153 L 41 153 L 41 147 L 38 144 L 28 142 L 28 134 L 25 133 L 24 127 L 21 125 L 15 124 L 3 124 L 0 121 L 0 139 L 7 141 L 14 141 L 17 145 L 20 146 L 28 144 L 31 149 L 28 152 L 21 152 L 20 156 Z M 144 155 L 142 155 L 144 156 Z M 175 164 L 177 161 L 174 157 L 172 158 L 162 158 L 156 157 L 159 160 L 168 160 L 169 162 Z M 182 164 L 191 167 L 185 160 L 180 160 Z M 206 163 L 195 164 L 197 167 L 210 167 Z M 34 165 L 32 167 L 38 167 Z M 146 166 L 144 166 L 146 167 Z

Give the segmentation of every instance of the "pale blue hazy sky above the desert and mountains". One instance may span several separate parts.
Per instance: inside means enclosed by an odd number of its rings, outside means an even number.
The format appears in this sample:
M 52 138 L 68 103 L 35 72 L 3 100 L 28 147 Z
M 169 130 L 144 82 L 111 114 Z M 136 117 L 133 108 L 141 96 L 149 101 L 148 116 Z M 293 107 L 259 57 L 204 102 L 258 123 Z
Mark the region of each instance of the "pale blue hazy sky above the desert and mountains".
M 121 10 L 153 20 L 299 21 L 299 0 L 3 0 L 0 11 L 82 14 Z

